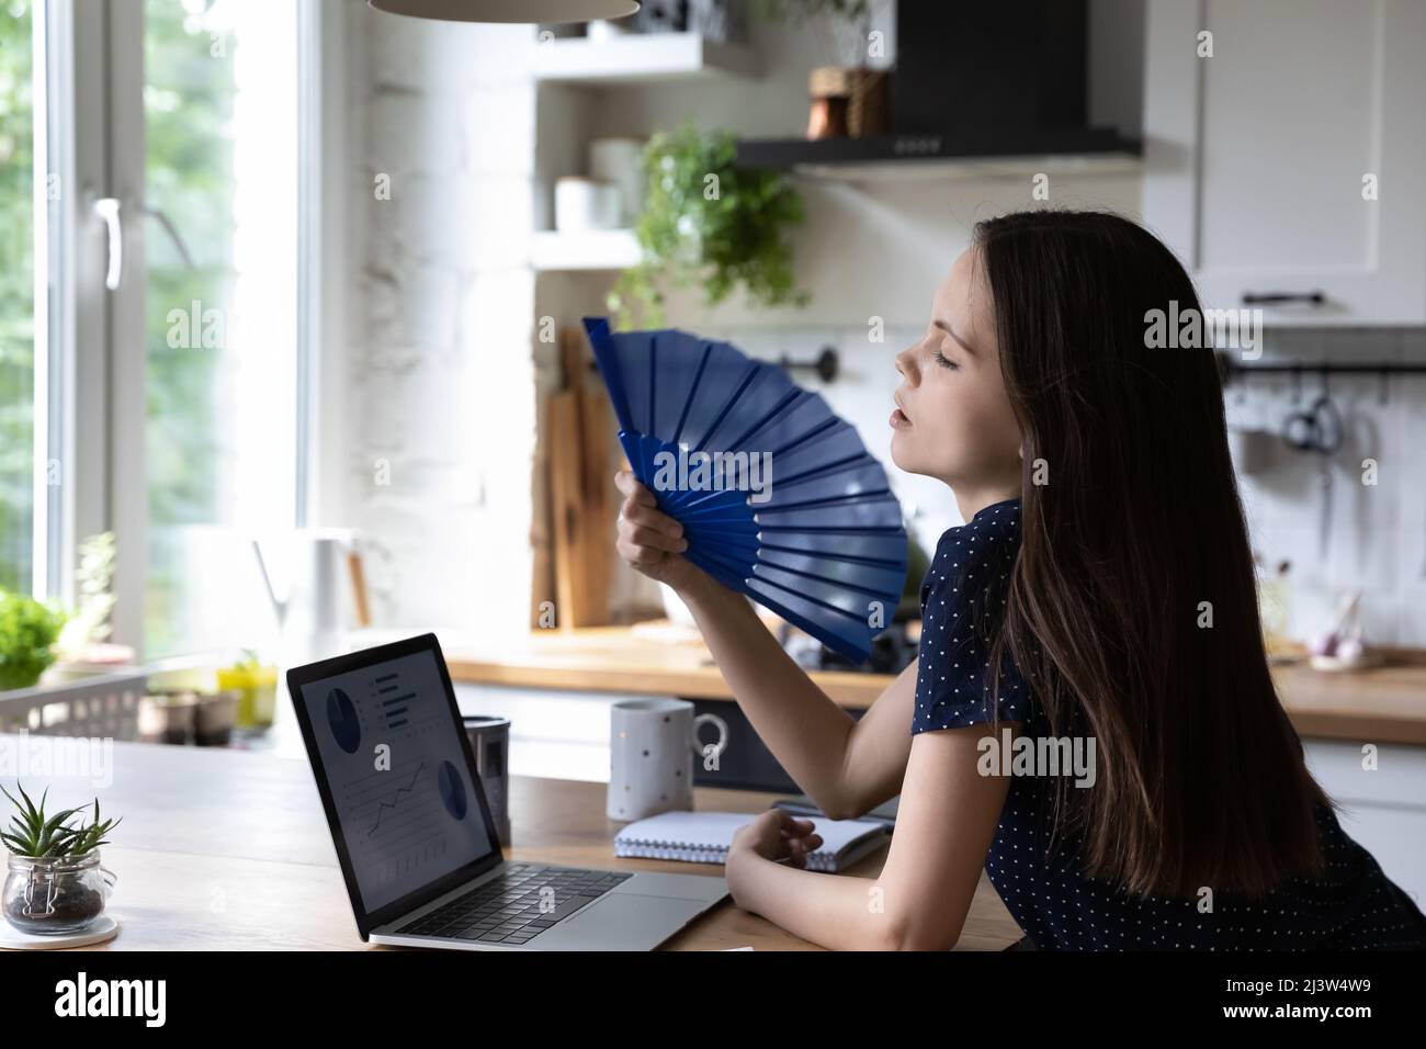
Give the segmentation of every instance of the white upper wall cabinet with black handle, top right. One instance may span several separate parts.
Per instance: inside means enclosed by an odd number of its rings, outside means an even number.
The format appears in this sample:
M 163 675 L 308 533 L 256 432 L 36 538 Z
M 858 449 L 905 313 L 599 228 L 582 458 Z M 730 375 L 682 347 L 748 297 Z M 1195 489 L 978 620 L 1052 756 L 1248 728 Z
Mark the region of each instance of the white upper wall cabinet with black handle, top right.
M 1423 324 L 1423 106 L 1422 0 L 1149 0 L 1144 220 L 1205 308 Z M 1322 301 L 1252 301 L 1283 293 Z

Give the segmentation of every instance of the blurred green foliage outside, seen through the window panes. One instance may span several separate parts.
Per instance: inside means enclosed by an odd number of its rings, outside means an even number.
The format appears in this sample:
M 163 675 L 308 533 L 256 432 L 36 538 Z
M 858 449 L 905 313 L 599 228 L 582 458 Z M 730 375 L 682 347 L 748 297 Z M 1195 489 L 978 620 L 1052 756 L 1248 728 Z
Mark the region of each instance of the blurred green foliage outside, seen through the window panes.
M 170 347 L 170 311 L 227 310 L 232 287 L 232 49 L 212 53 L 202 13 L 180 0 L 144 3 L 147 203 L 183 231 L 188 268 L 157 227 L 145 237 L 148 649 L 163 651 L 177 615 L 181 565 L 173 529 L 218 520 L 217 397 L 224 350 Z M 34 176 L 31 4 L 0 0 L 0 587 L 30 589 L 34 484 Z M 135 221 L 131 216 L 128 221 Z

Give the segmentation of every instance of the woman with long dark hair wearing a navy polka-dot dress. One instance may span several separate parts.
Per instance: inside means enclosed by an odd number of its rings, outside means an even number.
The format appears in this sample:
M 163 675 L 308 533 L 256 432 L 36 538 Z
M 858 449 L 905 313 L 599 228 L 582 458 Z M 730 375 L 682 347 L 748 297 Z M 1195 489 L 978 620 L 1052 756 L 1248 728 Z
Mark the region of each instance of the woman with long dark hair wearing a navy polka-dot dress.
M 1214 354 L 1149 348 L 1175 305 L 1198 310 L 1184 268 L 1121 217 L 975 228 L 896 358 L 891 414 L 897 467 L 950 485 L 967 524 L 921 584 L 917 661 L 861 721 L 617 475 L 620 555 L 687 602 L 799 786 L 838 819 L 901 795 L 876 879 L 806 871 L 811 824 L 759 816 L 727 859 L 740 906 L 829 948 L 945 949 L 984 868 L 1040 949 L 1426 948 L 1273 692 Z M 1005 729 L 1074 745 L 1089 775 L 1007 775 Z

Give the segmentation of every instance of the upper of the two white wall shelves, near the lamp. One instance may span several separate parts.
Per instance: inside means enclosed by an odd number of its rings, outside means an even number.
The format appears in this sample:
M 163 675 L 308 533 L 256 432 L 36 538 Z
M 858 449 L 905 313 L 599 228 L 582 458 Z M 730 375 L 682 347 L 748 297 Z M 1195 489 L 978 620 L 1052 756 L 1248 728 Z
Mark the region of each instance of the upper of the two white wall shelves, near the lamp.
M 697 33 L 556 37 L 535 49 L 535 78 L 549 83 L 602 87 L 756 76 L 753 49 Z

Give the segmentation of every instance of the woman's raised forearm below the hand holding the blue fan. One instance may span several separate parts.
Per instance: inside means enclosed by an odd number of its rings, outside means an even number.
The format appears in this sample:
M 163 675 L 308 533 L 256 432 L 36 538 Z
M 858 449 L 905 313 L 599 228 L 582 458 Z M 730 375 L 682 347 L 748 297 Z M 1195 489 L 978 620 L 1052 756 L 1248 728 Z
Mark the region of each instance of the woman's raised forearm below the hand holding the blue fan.
M 850 714 L 807 676 L 747 599 L 703 572 L 679 591 L 753 729 L 831 818 L 856 815 L 843 776 Z

